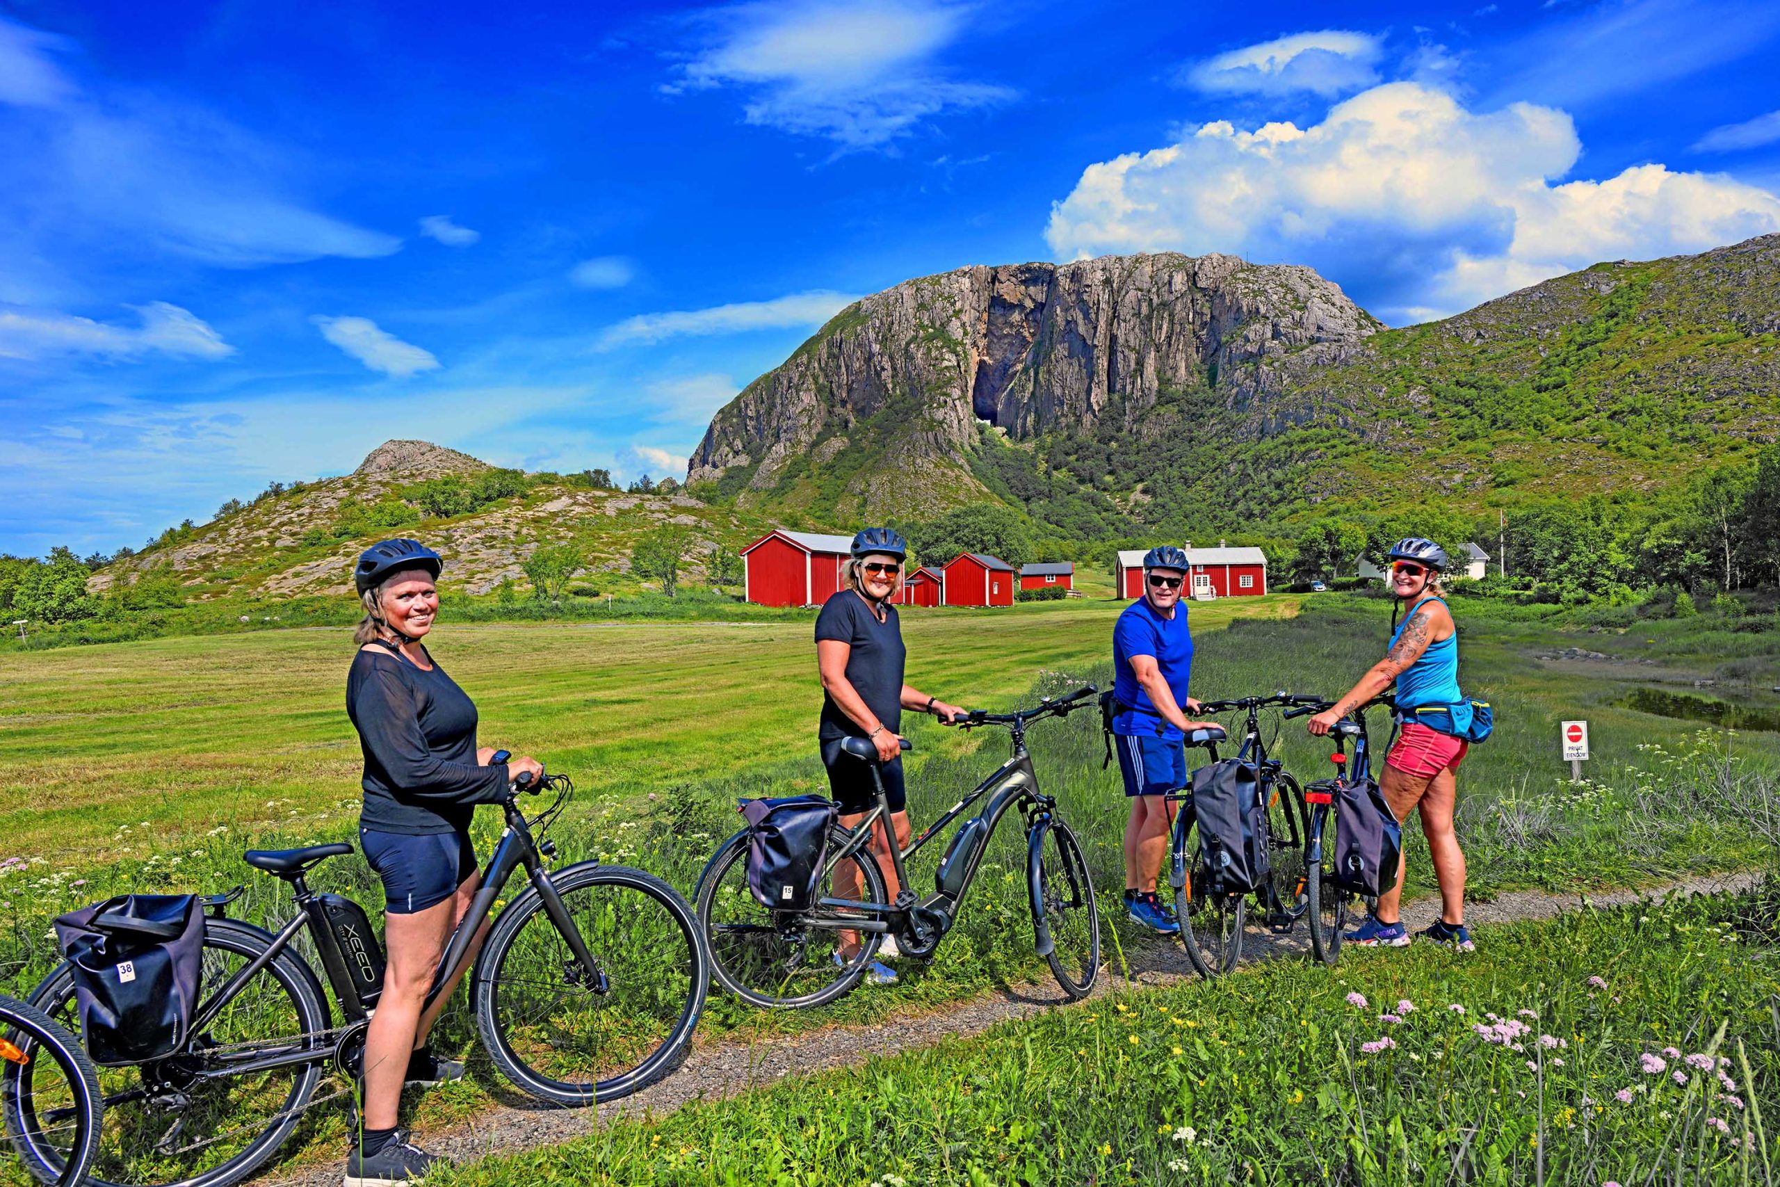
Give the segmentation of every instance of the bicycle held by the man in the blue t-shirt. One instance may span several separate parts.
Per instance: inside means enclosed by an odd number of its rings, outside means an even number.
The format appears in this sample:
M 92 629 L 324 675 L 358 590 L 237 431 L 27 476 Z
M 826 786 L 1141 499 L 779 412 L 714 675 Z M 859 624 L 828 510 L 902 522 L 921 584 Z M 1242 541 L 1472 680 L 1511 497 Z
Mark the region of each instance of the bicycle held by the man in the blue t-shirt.
M 1323 698 L 1294 696 L 1274 692 L 1271 696 L 1244 696 L 1226 701 L 1203 701 L 1200 714 L 1225 714 L 1244 710 L 1248 719 L 1242 728 L 1242 744 L 1237 760 L 1253 765 L 1257 771 L 1257 794 L 1262 812 L 1267 817 L 1269 868 L 1267 881 L 1255 888 L 1255 902 L 1266 913 L 1267 929 L 1274 934 L 1287 934 L 1305 915 L 1308 899 L 1305 893 L 1305 835 L 1308 817 L 1305 815 L 1305 795 L 1285 765 L 1267 756 L 1267 740 L 1260 730 L 1260 710 L 1271 707 L 1323 705 Z M 1210 762 L 1218 762 L 1218 744 L 1228 739 L 1228 731 L 1216 723 L 1198 726 L 1185 737 L 1185 746 L 1203 746 Z M 1242 933 L 1248 927 L 1246 893 L 1196 893 L 1203 888 L 1203 847 L 1198 842 L 1198 815 L 1193 812 L 1193 794 L 1189 790 L 1173 792 L 1169 804 L 1182 804 L 1175 813 L 1169 836 L 1169 874 L 1168 881 L 1175 897 L 1175 922 L 1180 924 L 1180 943 L 1187 950 L 1187 959 L 1202 977 L 1221 977 L 1242 959 Z M 1289 886 L 1289 900 L 1280 893 Z

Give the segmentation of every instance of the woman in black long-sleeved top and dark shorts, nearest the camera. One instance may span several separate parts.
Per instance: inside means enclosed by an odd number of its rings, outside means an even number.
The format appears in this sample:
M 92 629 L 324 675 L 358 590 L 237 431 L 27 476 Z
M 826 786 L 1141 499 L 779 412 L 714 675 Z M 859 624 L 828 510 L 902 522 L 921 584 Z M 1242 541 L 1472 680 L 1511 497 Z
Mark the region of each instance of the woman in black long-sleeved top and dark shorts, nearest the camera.
M 493 747 L 475 744 L 475 703 L 420 642 L 438 616 L 440 568 L 431 548 L 386 539 L 365 550 L 354 573 L 365 619 L 345 707 L 365 751 L 360 842 L 383 877 L 388 972 L 365 1036 L 363 1128 L 347 1153 L 345 1187 L 420 1178 L 434 1162 L 395 1121 L 404 1082 L 463 1075 L 463 1064 L 427 1046 L 456 981 L 431 1009 L 422 1005 L 445 941 L 475 897 L 470 817 L 477 804 L 500 803 L 520 774 L 543 774 L 532 758 L 490 763 Z M 477 949 L 486 931 L 484 920 Z

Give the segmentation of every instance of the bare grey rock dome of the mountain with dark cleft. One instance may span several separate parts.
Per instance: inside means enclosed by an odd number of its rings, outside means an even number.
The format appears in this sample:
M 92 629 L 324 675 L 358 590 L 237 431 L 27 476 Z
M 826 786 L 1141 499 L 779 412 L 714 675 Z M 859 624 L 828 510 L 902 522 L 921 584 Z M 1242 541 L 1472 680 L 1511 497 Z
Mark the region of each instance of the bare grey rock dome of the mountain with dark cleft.
M 1239 406 L 1283 359 L 1339 359 L 1376 329 L 1314 271 L 1235 256 L 967 267 L 844 310 L 712 418 L 687 479 L 773 491 L 835 459 L 844 436 L 886 463 L 853 468 L 846 495 L 862 511 L 931 500 L 934 480 L 975 497 L 963 456 L 977 420 L 1013 438 L 1088 427 L 1114 408 L 1136 424 L 1162 390 L 1202 384 Z

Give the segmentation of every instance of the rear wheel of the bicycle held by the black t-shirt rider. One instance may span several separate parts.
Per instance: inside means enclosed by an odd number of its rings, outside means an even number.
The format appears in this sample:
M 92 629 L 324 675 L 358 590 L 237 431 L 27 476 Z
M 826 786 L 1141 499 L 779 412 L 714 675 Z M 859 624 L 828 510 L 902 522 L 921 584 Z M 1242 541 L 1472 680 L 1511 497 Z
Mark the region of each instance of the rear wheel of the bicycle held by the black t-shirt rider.
M 844 829 L 837 828 L 828 835 L 831 851 L 846 844 L 847 833 Z M 858 867 L 865 899 L 885 902 L 885 876 L 878 860 L 863 845 L 846 860 Z M 838 863 L 835 868 L 840 868 Z M 826 893 L 831 883 L 833 872 L 821 890 Z M 828 977 L 826 970 L 831 968 L 828 945 L 837 933 L 799 924 L 799 916 L 810 915 L 808 911 L 774 911 L 753 899 L 753 892 L 748 890 L 746 829 L 723 842 L 712 854 L 705 872 L 698 877 L 696 893 L 698 925 L 710 950 L 710 972 L 717 984 L 744 1002 L 767 1009 L 813 1009 L 833 1002 L 865 977 L 865 970 L 878 956 L 878 945 L 883 943 L 883 933 L 862 931 L 860 950 L 846 966 L 835 968 L 833 977 Z M 819 954 L 813 956 L 817 963 L 812 963 L 812 947 L 819 949 Z M 756 970 L 764 975 L 774 965 L 785 968 L 783 977 L 778 977 L 776 982 L 749 984 Z M 785 993 L 792 975 L 799 970 L 808 972 L 810 988 L 801 993 Z M 801 989 L 803 984 L 805 981 L 799 981 L 797 988 Z

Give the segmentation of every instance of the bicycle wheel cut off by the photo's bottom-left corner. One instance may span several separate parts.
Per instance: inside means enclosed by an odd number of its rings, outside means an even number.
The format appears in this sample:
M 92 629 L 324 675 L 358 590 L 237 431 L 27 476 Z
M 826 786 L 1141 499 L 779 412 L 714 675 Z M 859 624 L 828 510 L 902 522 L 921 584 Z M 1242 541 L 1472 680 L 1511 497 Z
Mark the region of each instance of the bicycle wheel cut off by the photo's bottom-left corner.
M 100 1073 L 80 1039 L 34 1005 L 0 998 L 0 1103 L 12 1150 L 39 1183 L 85 1180 L 100 1148 Z M 30 1087 L 25 1089 L 25 1070 Z

